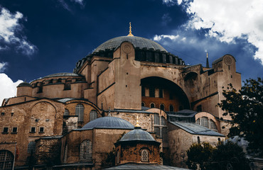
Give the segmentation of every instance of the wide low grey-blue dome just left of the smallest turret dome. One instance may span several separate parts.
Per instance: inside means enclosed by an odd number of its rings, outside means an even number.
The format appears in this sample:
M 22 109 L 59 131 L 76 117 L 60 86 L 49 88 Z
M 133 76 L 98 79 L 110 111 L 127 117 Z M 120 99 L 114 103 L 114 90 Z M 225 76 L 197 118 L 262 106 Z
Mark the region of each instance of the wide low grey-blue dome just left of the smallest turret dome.
M 91 122 L 84 125 L 81 129 L 93 129 L 93 128 L 102 128 L 102 129 L 134 129 L 134 125 L 129 123 L 127 120 L 122 118 L 116 118 L 112 116 L 106 116 L 102 118 L 97 118 Z

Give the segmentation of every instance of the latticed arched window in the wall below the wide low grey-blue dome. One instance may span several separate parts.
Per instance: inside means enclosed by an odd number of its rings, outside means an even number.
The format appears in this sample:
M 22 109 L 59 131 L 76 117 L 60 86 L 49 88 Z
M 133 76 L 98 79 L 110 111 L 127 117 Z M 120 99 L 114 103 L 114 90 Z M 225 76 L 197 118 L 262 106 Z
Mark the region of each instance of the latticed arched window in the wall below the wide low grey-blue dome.
M 92 143 L 90 140 L 84 140 L 80 145 L 80 162 L 92 161 Z

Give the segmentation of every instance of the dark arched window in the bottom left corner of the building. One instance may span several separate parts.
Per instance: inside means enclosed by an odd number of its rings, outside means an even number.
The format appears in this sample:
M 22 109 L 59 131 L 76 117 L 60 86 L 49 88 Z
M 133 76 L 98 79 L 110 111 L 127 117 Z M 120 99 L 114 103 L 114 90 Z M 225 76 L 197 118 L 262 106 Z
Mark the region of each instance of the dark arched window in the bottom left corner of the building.
M 0 169 L 12 169 L 14 155 L 8 150 L 0 150 Z

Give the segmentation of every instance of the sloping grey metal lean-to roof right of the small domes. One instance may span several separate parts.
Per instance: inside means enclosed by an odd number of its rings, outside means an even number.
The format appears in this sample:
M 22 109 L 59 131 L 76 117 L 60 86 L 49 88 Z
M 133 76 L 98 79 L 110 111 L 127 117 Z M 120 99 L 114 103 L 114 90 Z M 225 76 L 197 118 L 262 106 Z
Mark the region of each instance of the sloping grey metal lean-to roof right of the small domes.
M 168 121 L 168 122 L 173 125 L 176 125 L 178 128 L 186 130 L 186 132 L 189 132 L 190 134 L 193 135 L 210 135 L 210 136 L 225 137 L 225 135 L 222 135 L 219 132 L 215 132 L 214 130 L 210 130 L 208 128 L 205 128 L 195 123 L 183 123 L 178 121 L 175 122 Z

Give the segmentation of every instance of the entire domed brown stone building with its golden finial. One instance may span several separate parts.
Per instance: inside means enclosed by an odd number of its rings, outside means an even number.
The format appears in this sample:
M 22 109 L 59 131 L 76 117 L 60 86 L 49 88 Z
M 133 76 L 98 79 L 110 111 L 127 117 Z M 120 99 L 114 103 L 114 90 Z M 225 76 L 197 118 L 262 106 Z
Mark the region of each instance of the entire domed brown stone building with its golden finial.
M 17 86 L 0 111 L 0 169 L 181 169 L 193 143 L 225 140 L 235 57 L 186 65 L 153 40 L 112 38 L 71 73 Z M 144 167 L 144 168 L 143 168 Z

